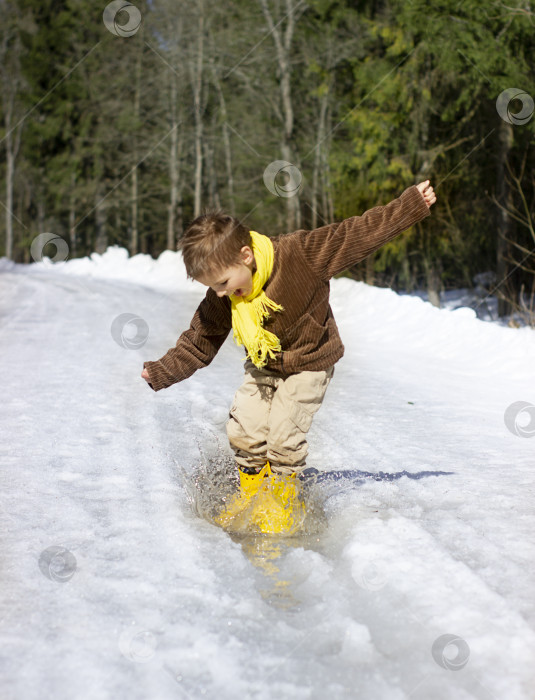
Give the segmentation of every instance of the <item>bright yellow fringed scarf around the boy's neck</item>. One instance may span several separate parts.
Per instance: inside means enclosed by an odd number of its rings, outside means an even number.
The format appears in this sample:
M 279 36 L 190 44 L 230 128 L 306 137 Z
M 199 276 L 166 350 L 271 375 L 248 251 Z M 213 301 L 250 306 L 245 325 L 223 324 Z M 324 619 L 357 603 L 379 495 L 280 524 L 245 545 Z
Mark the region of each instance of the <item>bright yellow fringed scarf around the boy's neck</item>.
M 263 367 L 276 352 L 281 351 L 281 344 L 274 333 L 262 327 L 264 318 L 269 317 L 268 309 L 282 311 L 283 308 L 272 299 L 268 299 L 262 289 L 273 269 L 273 243 L 268 236 L 250 231 L 252 249 L 256 262 L 253 274 L 253 289 L 247 297 L 230 295 L 232 305 L 232 328 L 237 345 L 245 345 L 247 357 L 256 365 Z

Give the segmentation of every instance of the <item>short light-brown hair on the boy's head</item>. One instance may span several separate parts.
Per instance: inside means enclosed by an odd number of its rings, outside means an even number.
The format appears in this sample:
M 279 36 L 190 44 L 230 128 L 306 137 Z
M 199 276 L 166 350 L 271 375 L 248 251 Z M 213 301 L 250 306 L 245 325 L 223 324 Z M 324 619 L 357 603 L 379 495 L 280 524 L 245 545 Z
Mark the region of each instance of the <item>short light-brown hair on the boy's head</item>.
M 243 246 L 252 246 L 249 229 L 221 211 L 198 216 L 180 241 L 186 272 L 191 279 L 215 275 L 238 264 Z

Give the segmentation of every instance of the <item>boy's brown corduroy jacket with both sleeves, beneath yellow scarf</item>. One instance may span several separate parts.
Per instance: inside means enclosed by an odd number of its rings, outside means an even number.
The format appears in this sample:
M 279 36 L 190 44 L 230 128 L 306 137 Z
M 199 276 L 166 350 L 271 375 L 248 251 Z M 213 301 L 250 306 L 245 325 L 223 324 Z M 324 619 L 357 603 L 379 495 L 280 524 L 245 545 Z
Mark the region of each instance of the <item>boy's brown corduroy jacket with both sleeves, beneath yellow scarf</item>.
M 266 369 L 286 376 L 324 370 L 337 362 L 344 346 L 329 305 L 330 278 L 428 215 L 429 208 L 413 185 L 401 197 L 362 216 L 272 238 L 273 270 L 264 291 L 284 310 L 272 312 L 264 323 L 282 347 Z M 150 386 L 159 391 L 209 365 L 231 328 L 230 299 L 209 288 L 175 347 L 156 362 L 144 363 Z

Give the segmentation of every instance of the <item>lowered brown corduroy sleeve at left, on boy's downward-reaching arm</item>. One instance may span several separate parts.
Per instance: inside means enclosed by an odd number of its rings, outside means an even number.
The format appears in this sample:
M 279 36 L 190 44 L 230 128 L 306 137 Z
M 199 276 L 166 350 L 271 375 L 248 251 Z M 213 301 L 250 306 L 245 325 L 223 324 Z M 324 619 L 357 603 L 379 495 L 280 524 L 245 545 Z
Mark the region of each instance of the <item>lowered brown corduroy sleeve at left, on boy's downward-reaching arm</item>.
M 144 362 L 149 385 L 154 391 L 190 377 L 207 367 L 217 355 L 232 328 L 228 298 L 219 298 L 208 289 L 199 304 L 188 330 L 177 340 L 174 348 L 155 362 Z

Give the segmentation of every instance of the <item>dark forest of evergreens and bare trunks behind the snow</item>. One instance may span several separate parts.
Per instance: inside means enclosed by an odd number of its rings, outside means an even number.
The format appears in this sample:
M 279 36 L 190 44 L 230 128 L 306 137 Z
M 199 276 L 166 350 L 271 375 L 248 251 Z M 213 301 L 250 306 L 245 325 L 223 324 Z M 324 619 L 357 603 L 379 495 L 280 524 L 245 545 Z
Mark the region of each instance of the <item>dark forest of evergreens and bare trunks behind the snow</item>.
M 314 228 L 429 178 L 433 216 L 350 274 L 438 303 L 489 273 L 500 314 L 533 319 L 535 118 L 496 109 L 508 88 L 535 96 L 532 2 L 134 4 L 123 37 L 106 2 L 0 0 L 1 255 L 31 262 L 53 232 L 69 257 L 157 256 L 214 207 Z M 302 174 L 293 197 L 266 187 L 276 160 Z

